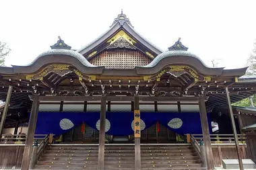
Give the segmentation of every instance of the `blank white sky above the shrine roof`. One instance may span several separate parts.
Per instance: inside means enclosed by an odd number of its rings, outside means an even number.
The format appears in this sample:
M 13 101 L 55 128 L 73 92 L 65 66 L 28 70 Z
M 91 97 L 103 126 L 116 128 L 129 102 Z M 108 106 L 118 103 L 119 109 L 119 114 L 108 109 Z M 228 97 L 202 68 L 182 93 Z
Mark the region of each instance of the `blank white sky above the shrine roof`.
M 0 2 L 6 65 L 26 65 L 61 38 L 81 48 L 108 30 L 123 9 L 135 30 L 167 50 L 181 37 L 207 65 L 245 67 L 256 39 L 256 1 L 9 1 Z

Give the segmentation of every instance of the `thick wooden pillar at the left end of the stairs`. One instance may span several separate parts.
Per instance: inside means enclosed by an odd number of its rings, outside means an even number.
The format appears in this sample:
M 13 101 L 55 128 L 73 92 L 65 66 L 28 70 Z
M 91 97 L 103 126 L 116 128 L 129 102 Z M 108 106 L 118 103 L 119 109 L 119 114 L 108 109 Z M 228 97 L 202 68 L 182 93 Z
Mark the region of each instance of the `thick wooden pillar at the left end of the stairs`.
M 34 95 L 34 100 L 32 103 L 32 109 L 30 113 L 30 121 L 28 123 L 28 134 L 26 137 L 26 144 L 24 147 L 24 154 L 22 158 L 22 170 L 28 170 L 30 167 L 30 157 L 32 154 L 33 141 L 34 141 L 34 132 L 36 130 L 36 121 L 38 116 L 39 108 L 39 96 Z

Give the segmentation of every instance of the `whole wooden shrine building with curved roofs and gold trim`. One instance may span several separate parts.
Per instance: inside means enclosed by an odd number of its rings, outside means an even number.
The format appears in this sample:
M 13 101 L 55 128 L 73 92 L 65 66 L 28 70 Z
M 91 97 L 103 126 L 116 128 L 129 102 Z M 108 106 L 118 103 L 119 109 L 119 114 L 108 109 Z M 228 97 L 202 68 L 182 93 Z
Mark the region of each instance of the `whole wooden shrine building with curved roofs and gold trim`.
M 161 50 L 123 11 L 78 50 L 63 39 L 29 65 L 0 67 L 2 168 L 214 169 L 226 166 L 223 159 L 240 168 L 242 159 L 256 161 L 256 110 L 231 105 L 256 93 L 247 67 L 208 67 L 181 38 Z

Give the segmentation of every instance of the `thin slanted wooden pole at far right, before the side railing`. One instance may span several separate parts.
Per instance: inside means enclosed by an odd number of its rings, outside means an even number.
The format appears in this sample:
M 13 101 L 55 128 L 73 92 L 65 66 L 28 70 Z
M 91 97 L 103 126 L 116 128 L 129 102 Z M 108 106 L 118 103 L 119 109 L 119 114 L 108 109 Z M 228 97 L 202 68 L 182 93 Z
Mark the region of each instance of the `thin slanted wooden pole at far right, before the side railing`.
M 230 114 L 230 119 L 231 119 L 231 123 L 232 123 L 233 134 L 234 134 L 234 142 L 236 144 L 238 163 L 239 163 L 240 169 L 243 170 L 244 169 L 243 161 L 242 161 L 242 157 L 241 157 L 241 153 L 240 153 L 238 137 L 237 137 L 237 133 L 236 133 L 236 124 L 234 123 L 234 114 L 233 114 L 233 110 L 232 110 L 232 106 L 231 106 L 228 87 L 225 88 L 225 91 L 226 91 L 226 100 L 228 102 L 228 111 L 229 111 L 229 114 Z

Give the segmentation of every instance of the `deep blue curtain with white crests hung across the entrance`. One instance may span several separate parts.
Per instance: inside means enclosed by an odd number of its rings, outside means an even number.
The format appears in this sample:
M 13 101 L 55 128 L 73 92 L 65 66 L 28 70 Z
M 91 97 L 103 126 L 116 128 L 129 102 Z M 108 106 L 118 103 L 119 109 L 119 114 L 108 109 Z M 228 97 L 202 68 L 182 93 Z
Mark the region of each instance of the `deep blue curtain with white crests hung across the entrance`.
M 174 118 L 181 120 L 182 123 L 179 122 L 180 127 L 171 128 L 168 126 L 170 120 Z M 210 114 L 207 114 L 207 118 L 210 132 L 212 132 Z M 65 128 L 60 126 L 60 122 L 63 119 L 65 119 Z M 63 134 L 71 130 L 71 128 L 82 124 L 83 121 L 88 126 L 96 129 L 96 122 L 99 119 L 100 112 L 38 112 L 36 134 Z M 106 119 L 110 122 L 110 129 L 106 134 L 117 136 L 133 134 L 133 129 L 131 128 L 133 112 L 106 112 Z M 145 122 L 146 128 L 158 121 L 178 134 L 202 134 L 198 112 L 141 112 L 141 120 Z

